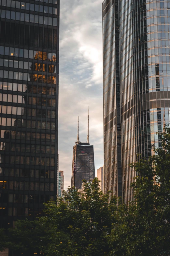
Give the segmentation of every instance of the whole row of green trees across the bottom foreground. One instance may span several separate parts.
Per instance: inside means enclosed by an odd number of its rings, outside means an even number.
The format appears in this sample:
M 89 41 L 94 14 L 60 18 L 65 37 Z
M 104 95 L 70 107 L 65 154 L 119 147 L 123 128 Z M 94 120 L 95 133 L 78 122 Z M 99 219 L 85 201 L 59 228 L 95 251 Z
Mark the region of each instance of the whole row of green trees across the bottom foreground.
M 149 162 L 131 165 L 137 176 L 129 205 L 115 197 L 108 204 L 111 193 L 104 195 L 95 178 L 83 193 L 69 188 L 57 205 L 45 204 L 43 217 L 1 230 L 0 249 L 24 256 L 169 256 L 170 128 L 161 136 Z

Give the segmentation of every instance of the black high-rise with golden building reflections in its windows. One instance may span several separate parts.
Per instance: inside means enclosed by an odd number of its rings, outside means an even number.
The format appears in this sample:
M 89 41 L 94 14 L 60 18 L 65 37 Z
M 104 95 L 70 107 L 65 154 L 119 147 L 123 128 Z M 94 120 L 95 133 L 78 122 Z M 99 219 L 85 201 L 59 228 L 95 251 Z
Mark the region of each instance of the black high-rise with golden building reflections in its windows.
M 56 199 L 59 0 L 1 1 L 0 227 Z

